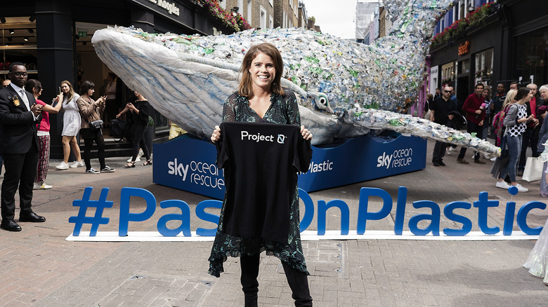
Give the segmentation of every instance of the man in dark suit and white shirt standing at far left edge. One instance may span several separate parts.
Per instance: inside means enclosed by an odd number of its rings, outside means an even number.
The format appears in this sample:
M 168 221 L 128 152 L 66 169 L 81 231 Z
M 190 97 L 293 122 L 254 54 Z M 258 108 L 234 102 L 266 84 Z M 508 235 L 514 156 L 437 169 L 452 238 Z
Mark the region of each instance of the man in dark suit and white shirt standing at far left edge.
M 27 68 L 20 63 L 10 65 L 10 86 L 0 90 L 0 154 L 4 158 L 4 182 L 1 189 L 0 227 L 21 231 L 15 223 L 15 191 L 19 186 L 19 221 L 46 221 L 32 212 L 32 185 L 38 163 L 36 124 L 41 121 L 41 105 L 25 90 Z

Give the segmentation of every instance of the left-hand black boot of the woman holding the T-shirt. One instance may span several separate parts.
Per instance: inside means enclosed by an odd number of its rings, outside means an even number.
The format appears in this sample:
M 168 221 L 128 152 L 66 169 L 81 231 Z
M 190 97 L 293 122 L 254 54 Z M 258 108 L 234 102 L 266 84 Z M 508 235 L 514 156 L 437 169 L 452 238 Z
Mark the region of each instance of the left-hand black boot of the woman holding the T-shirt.
M 257 292 L 259 292 L 259 261 L 260 254 L 240 256 L 240 268 L 242 268 L 242 290 L 244 292 L 245 307 L 257 307 Z

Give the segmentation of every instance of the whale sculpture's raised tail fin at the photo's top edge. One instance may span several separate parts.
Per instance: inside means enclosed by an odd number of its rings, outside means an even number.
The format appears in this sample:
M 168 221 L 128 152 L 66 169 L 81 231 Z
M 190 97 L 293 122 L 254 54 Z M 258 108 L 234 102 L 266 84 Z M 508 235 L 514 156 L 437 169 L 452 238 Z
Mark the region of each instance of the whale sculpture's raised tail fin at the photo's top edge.
M 436 22 L 447 13 L 458 0 L 390 0 L 385 2 L 386 11 L 398 16 L 389 35 L 414 35 L 429 40 L 433 36 Z

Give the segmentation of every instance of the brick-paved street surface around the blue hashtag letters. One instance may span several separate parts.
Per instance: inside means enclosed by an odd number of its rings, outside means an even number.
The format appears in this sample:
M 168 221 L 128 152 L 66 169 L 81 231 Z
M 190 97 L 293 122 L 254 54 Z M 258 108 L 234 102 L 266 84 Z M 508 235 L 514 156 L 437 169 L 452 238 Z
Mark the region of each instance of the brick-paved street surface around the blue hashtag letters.
M 514 198 L 495 188 L 489 174 L 491 163 L 461 165 L 457 154 L 446 156 L 445 167 L 431 163 L 433 142 L 429 141 L 426 169 L 325 191 L 310 193 L 313 202 L 343 200 L 350 208 L 354 230 L 358 198 L 363 186 L 384 189 L 393 198 L 389 217 L 368 221 L 367 231 L 393 230 L 398 186 L 406 186 L 407 209 L 404 231 L 410 217 L 430 213 L 415 209 L 415 200 L 432 200 L 440 207 L 455 200 L 473 203 L 486 191 L 499 207 L 488 210 L 488 225 L 502 229 L 504 210 L 510 200 L 517 208 L 540 200 L 539 182 L 520 182 L 530 191 Z M 467 160 L 471 162 L 471 151 Z M 22 231 L 0 231 L 0 306 L 243 306 L 238 259 L 228 259 L 221 278 L 207 274 L 211 242 L 72 242 L 65 238 L 77 215 L 72 201 L 81 199 L 86 186 L 93 187 L 91 199 L 109 187 L 103 217 L 107 225 L 99 231 L 118 231 L 120 191 L 139 187 L 162 200 L 184 200 L 194 212 L 197 203 L 208 199 L 152 183 L 152 167 L 124 169 L 126 158 L 108 158 L 115 173 L 86 175 L 84 168 L 59 171 L 51 161 L 48 184 L 53 189 L 34 192 L 34 211 L 45 223 L 20 223 Z M 155 161 L 154 163 L 157 163 Z M 92 161 L 98 166 L 98 161 Z M 0 179 L 3 179 L 3 175 Z M 380 199 L 370 199 L 370 212 L 381 208 Z M 131 199 L 131 212 L 143 212 L 144 200 Z M 151 219 L 130 222 L 129 231 L 156 231 L 157 221 L 177 210 L 157 206 Z M 180 212 L 180 210 L 179 210 Z M 214 212 L 214 211 L 211 211 Z M 442 211 L 443 212 L 443 211 Z M 472 231 L 479 231 L 478 210 L 457 211 L 468 217 Z M 93 210 L 88 210 L 88 216 Z M 16 217 L 18 212 L 16 212 Z M 190 228 L 211 228 L 211 223 L 193 217 Z M 533 210 L 528 225 L 542 226 L 547 210 Z M 422 221 L 419 226 L 428 226 Z M 308 230 L 315 230 L 314 219 Z M 327 230 L 337 230 L 340 212 L 327 212 Z M 174 224 L 175 228 L 177 225 Z M 462 224 L 443 214 L 440 228 Z M 87 227 L 87 228 L 86 228 Z M 89 231 L 89 225 L 82 228 Z M 514 230 L 518 227 L 514 221 Z M 522 268 L 534 240 L 443 241 L 443 240 L 320 240 L 306 241 L 304 252 L 314 306 L 546 306 L 548 287 Z M 280 261 L 261 255 L 260 306 L 292 306 L 289 287 Z

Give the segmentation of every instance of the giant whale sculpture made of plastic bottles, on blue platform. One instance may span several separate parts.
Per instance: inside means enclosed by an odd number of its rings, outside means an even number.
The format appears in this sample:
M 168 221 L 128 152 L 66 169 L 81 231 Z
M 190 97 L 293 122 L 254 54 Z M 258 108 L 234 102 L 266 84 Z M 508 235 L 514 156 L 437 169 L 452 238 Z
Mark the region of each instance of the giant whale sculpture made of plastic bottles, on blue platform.
M 498 156 L 500 149 L 489 142 L 403 114 L 417 100 L 436 20 L 455 0 L 387 2 L 386 9 L 399 17 L 390 35 L 370 46 L 301 28 L 199 36 L 108 27 L 96 31 L 91 42 L 124 83 L 200 137 L 221 122 L 223 103 L 237 89 L 244 54 L 268 41 L 282 54 L 282 86 L 294 90 L 313 144 L 390 129 Z

